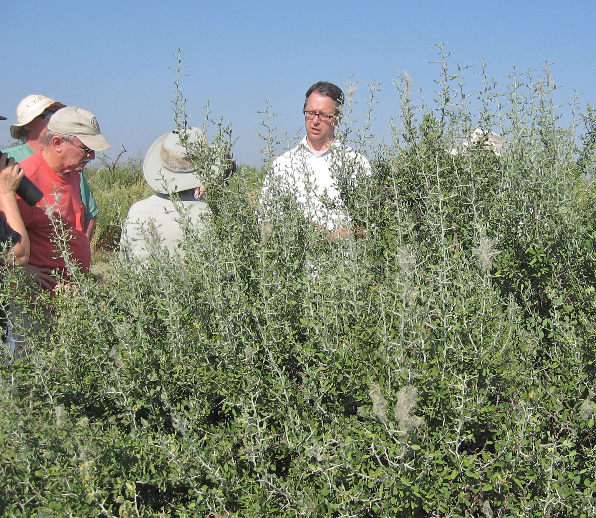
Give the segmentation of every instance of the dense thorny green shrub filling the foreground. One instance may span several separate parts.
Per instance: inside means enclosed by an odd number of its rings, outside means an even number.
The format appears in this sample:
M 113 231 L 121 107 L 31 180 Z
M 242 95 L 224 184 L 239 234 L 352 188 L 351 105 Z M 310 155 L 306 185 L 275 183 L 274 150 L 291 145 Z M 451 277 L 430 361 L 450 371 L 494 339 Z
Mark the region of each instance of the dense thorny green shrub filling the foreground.
M 289 197 L 263 231 L 245 174 L 184 260 L 29 309 L 54 313 L 1 369 L 2 516 L 594 516 L 592 113 L 582 142 L 548 76 L 478 117 L 408 81 L 373 174 L 337 171 L 364 237 Z M 477 126 L 501 156 L 451 152 Z

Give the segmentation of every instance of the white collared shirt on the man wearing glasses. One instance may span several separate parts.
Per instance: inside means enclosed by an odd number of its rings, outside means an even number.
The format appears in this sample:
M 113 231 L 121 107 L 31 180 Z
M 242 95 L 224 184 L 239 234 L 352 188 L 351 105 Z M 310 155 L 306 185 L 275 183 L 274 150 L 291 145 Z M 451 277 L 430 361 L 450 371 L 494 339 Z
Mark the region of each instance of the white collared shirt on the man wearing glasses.
M 261 202 L 266 213 L 272 215 L 271 211 L 278 211 L 275 199 L 289 193 L 296 196 L 311 221 L 328 230 L 346 227 L 349 219 L 342 208 L 338 185 L 355 179 L 357 173 L 368 175 L 370 171 L 367 158 L 349 146 L 333 141 L 317 154 L 305 137 L 295 148 L 275 158 L 265 178 Z

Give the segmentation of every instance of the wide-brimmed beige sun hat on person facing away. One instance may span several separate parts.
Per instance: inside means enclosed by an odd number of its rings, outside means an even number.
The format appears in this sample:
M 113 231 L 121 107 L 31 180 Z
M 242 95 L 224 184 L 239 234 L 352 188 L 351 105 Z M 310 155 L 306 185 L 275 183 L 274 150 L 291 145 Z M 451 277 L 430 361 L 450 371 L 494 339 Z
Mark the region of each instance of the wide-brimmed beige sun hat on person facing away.
M 188 145 L 199 151 L 209 149 L 207 138 L 196 127 L 188 127 Z M 160 136 L 147 151 L 143 163 L 143 175 L 154 191 L 162 194 L 181 192 L 205 185 L 197 173 L 178 132 Z

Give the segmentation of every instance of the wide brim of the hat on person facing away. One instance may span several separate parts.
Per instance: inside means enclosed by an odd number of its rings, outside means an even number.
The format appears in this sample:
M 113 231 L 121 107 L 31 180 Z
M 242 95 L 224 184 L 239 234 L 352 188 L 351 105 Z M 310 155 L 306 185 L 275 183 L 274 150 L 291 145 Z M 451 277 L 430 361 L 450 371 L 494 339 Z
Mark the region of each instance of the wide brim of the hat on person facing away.
M 195 189 L 203 183 L 196 172 L 173 173 L 163 167 L 162 143 L 170 133 L 160 136 L 159 139 L 153 142 L 143 162 L 143 176 L 145 177 L 145 181 L 151 189 L 162 194 Z

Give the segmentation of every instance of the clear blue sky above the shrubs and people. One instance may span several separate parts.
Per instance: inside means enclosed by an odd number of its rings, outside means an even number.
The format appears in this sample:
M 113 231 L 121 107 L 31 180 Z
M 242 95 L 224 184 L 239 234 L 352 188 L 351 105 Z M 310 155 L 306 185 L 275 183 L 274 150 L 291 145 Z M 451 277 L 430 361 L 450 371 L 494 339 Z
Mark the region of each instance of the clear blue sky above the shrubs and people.
M 201 125 L 209 99 L 213 116 L 232 124 L 244 163 L 260 161 L 255 112 L 264 99 L 281 113 L 280 132 L 295 135 L 304 93 L 318 80 L 383 82 L 375 129 L 386 133 L 398 115 L 396 71 L 408 71 L 430 98 L 439 42 L 449 42 L 454 63 L 486 58 L 501 89 L 513 65 L 540 70 L 553 61 L 560 101 L 575 89 L 596 104 L 590 1 L 23 1 L 3 2 L 2 20 L 4 144 L 18 102 L 41 93 L 91 110 L 111 152 L 122 142 L 129 155 L 144 155 L 173 127 L 175 76 L 166 67 L 178 48 L 186 51 L 190 123 Z M 361 86 L 357 98 L 365 94 Z

